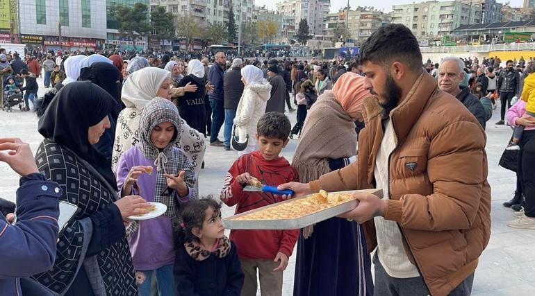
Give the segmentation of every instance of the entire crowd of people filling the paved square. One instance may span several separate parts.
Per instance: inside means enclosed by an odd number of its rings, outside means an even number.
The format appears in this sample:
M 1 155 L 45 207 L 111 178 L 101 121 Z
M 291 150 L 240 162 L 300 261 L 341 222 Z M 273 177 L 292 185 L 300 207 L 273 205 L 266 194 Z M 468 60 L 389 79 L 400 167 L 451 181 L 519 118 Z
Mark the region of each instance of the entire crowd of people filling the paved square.
M 0 161 L 22 176 L 16 222 L 0 204 L 0 258 L 17 266 L 0 289 L 13 295 L 251 296 L 258 283 L 261 295 L 282 295 L 296 244 L 294 295 L 470 295 L 491 235 L 485 127 L 498 99 L 497 124 L 515 128 L 504 148 L 518 158 L 508 225 L 535 229 L 533 62 L 521 73 L 497 58 L 422 67 L 399 24 L 351 62 L 224 52 L 14 61 L 3 67 L 0 53 L 5 91 L 29 92 L 44 139 L 35 160 L 23 141 L 0 139 Z M 37 99 L 40 67 L 47 94 Z M 294 135 L 290 163 L 280 154 Z M 219 199 L 199 196 L 205 141 L 238 151 Z M 255 179 L 295 194 L 245 191 Z M 222 203 L 240 214 L 372 188 L 384 197 L 354 193 L 352 211 L 304 229 L 224 234 Z M 78 207 L 60 235 L 57 200 Z M 148 202 L 167 211 L 129 218 Z

